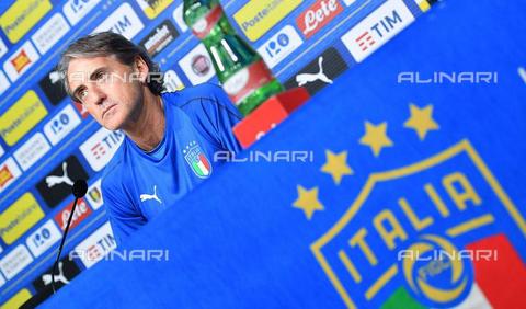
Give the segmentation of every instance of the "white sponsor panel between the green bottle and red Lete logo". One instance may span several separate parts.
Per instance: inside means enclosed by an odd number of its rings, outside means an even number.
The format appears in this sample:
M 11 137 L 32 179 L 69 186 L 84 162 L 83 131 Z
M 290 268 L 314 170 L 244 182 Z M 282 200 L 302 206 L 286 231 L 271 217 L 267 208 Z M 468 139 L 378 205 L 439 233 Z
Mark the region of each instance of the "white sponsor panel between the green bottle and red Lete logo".
M 296 30 L 291 25 L 286 25 L 258 48 L 258 53 L 263 57 L 265 64 L 273 68 L 301 44 L 304 44 L 304 41 L 299 37 Z

